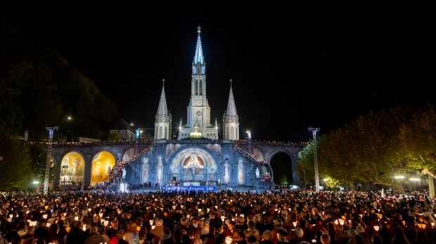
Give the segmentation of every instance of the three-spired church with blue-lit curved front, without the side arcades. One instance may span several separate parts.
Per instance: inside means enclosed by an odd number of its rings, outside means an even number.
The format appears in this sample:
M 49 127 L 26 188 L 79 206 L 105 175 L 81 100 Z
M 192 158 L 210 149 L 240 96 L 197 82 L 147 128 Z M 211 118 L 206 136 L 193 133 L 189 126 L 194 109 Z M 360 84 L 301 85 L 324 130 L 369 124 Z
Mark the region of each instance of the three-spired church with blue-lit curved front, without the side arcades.
M 155 135 L 150 152 L 132 162 L 134 182 L 165 184 L 170 180 L 183 182 L 214 182 L 227 185 L 255 185 L 261 177 L 262 166 L 253 158 L 245 158 L 235 151 L 239 140 L 239 122 L 233 91 L 224 118 L 224 138 L 218 138 L 218 123 L 210 118 L 207 101 L 206 63 L 198 27 L 197 45 L 192 62 L 191 97 L 186 111 L 186 123 L 181 119 L 177 140 L 172 140 L 172 116 L 167 110 L 165 86 L 162 87 L 158 112 L 155 116 Z M 165 80 L 164 80 L 165 82 Z M 264 168 L 271 175 L 271 169 Z M 129 172 L 127 173 L 129 175 Z M 132 175 L 132 174 L 130 174 Z M 136 179 L 136 180 L 135 180 Z

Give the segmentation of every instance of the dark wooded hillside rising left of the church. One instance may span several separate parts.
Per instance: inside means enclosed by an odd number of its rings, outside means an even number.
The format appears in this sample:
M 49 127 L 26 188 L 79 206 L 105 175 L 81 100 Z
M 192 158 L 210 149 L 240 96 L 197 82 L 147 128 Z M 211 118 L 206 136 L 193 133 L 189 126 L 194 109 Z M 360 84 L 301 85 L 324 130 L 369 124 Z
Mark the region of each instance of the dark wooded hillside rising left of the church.
M 117 109 L 96 83 L 57 50 L 28 39 L 8 15 L 0 22 L 1 123 L 13 135 L 28 130 L 30 140 L 46 140 L 47 126 L 58 126 L 56 139 L 68 141 L 107 132 Z

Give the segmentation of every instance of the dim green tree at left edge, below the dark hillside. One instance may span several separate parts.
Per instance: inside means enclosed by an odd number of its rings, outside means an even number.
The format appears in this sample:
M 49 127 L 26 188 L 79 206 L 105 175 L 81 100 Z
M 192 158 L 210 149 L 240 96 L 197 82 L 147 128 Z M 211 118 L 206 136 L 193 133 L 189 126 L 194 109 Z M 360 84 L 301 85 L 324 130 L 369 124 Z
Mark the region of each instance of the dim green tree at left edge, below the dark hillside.
M 32 177 L 29 149 L 12 138 L 11 129 L 0 122 L 0 191 L 27 188 Z

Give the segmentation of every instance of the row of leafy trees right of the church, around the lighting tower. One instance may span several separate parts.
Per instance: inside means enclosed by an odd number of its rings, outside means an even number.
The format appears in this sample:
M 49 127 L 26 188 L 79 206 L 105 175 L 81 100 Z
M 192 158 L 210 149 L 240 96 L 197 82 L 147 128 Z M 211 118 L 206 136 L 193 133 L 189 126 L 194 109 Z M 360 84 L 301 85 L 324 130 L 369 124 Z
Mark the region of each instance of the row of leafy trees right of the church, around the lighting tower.
M 373 182 L 404 191 L 395 175 L 436 170 L 435 126 L 435 106 L 430 104 L 371 111 L 316 140 L 319 175 L 350 187 Z M 299 154 L 300 172 L 304 169 L 309 177 L 314 175 L 314 142 Z

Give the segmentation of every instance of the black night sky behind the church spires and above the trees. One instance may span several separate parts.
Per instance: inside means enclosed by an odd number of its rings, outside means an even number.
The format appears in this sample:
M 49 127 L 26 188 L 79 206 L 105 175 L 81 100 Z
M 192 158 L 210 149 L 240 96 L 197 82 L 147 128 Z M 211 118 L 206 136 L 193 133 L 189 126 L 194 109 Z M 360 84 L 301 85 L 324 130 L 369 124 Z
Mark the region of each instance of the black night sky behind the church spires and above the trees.
M 153 128 L 162 79 L 174 127 L 186 122 L 198 25 L 211 121 L 222 125 L 232 79 L 241 138 L 307 140 L 311 126 L 326 133 L 371 110 L 436 102 L 433 6 L 278 3 L 3 8 L 143 128 Z

